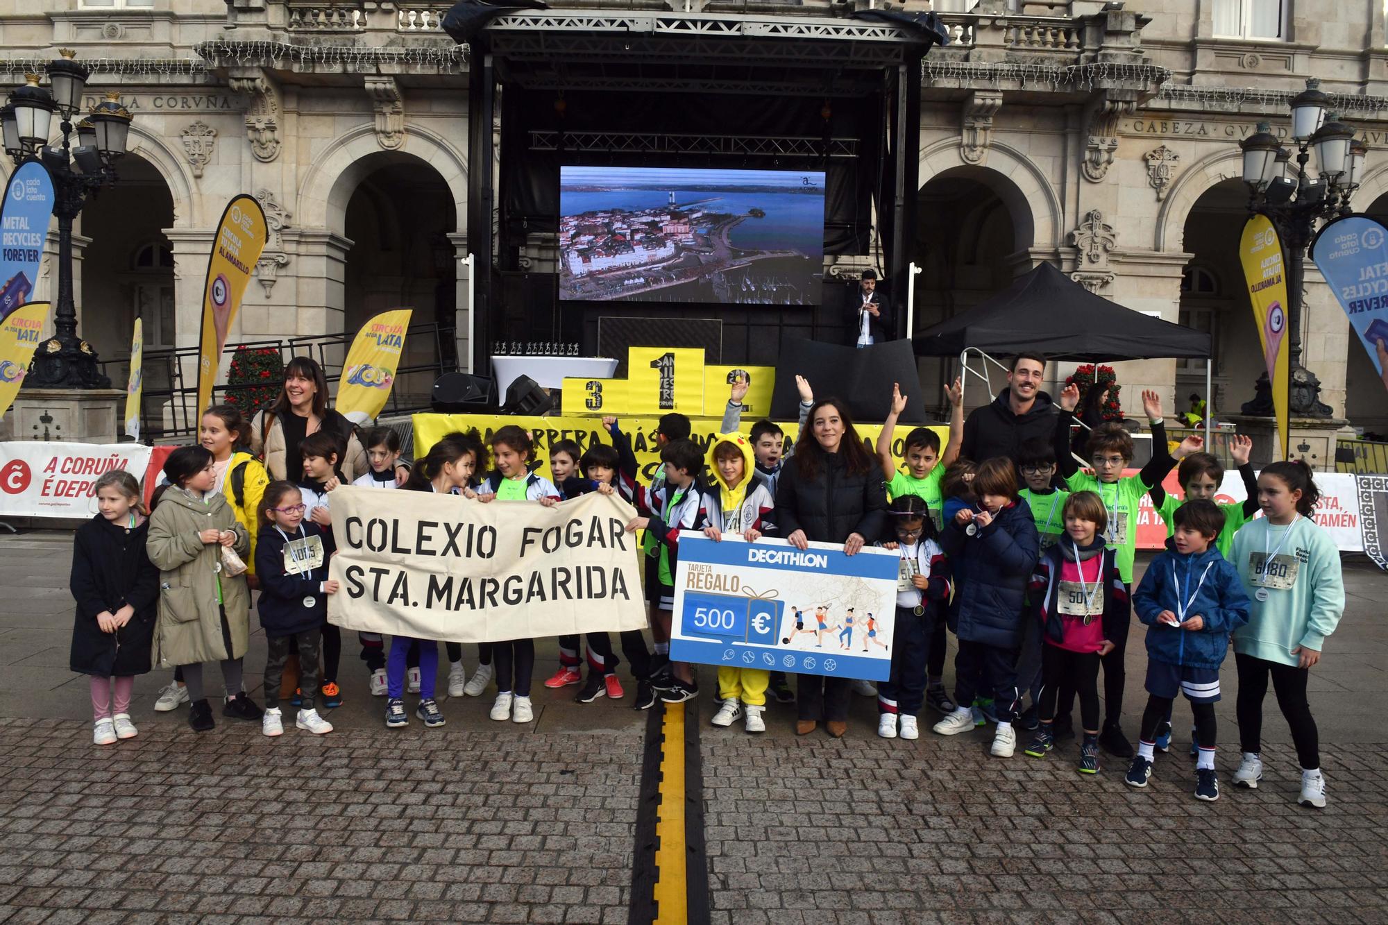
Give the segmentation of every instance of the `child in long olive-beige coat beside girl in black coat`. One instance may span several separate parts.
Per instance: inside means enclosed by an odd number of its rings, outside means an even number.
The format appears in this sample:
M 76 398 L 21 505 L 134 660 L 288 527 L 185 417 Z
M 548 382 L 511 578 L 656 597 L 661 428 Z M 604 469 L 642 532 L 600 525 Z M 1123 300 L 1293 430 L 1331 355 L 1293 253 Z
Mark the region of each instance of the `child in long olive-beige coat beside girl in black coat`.
M 221 547 L 243 558 L 250 535 L 236 522 L 226 499 L 210 493 L 217 479 L 212 454 L 201 446 L 169 453 L 164 475 L 169 489 L 150 517 L 146 542 L 160 569 L 160 618 L 154 631 L 154 661 L 182 665 L 189 699 L 189 725 L 211 729 L 212 710 L 203 696 L 203 662 L 218 661 L 226 700 L 222 715 L 260 721 L 261 708 L 242 692 L 242 658 L 250 638 L 250 590 L 246 576 L 223 574 Z

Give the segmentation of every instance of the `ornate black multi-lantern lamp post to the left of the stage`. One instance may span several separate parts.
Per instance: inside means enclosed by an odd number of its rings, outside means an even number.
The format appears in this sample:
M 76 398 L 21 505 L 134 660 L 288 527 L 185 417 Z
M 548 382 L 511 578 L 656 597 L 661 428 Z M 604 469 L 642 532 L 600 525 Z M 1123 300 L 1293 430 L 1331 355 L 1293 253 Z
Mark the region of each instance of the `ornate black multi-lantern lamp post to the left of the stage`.
M 115 182 L 115 161 L 125 154 L 130 114 L 118 93 L 93 107 L 76 126 L 72 146 L 72 117 L 82 104 L 89 71 L 78 64 L 75 51 L 49 64 L 49 86 L 39 75 L 26 74 L 26 85 L 10 94 L 0 107 L 4 149 L 15 164 L 40 161 L 53 176 L 53 214 L 58 219 L 58 299 L 53 315 L 56 332 L 33 351 L 33 365 L 25 376 L 26 389 L 110 389 L 111 379 L 97 368 L 96 351 L 78 338 L 78 312 L 72 299 L 72 219 L 82 212 L 87 194 Z M 61 118 L 62 144 L 49 146 L 53 114 Z

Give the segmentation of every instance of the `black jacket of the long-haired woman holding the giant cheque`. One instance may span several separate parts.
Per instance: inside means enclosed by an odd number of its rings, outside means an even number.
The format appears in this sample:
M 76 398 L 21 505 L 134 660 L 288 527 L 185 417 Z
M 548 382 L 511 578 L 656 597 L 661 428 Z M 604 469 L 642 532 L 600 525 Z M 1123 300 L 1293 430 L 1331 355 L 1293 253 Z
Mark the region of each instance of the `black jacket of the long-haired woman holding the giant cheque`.
M 806 539 L 820 543 L 843 543 L 849 533 L 867 542 L 881 536 L 887 526 L 887 483 L 881 467 L 851 475 L 841 453 L 820 458 L 819 475 L 809 482 L 799 475 L 798 458 L 781 468 L 776 482 L 777 535 L 805 531 Z

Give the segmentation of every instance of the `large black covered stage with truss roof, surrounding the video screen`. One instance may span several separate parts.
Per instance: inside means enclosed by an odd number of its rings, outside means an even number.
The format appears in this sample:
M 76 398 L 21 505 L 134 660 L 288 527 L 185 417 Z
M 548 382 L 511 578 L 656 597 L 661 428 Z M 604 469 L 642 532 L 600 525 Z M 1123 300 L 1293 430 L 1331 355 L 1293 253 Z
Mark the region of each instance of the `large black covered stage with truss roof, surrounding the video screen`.
M 443 28 L 471 61 L 479 368 L 498 340 L 594 351 L 598 319 L 615 317 L 666 318 L 670 332 L 716 321 L 711 362 L 773 364 L 783 336 L 843 342 L 854 286 L 824 278 L 824 256 L 880 249 L 883 288 L 905 306 L 922 58 L 945 31 L 933 14 L 769 10 L 450 10 Z M 643 171 L 688 178 L 665 190 Z M 762 208 L 758 196 L 793 201 L 786 181 L 758 186 L 770 174 L 752 171 L 795 174 L 823 203 L 822 249 L 804 246 L 804 221 L 791 235 L 786 214 Z M 561 174 L 570 203 L 605 200 L 565 217 Z M 600 182 L 608 174 L 629 185 Z

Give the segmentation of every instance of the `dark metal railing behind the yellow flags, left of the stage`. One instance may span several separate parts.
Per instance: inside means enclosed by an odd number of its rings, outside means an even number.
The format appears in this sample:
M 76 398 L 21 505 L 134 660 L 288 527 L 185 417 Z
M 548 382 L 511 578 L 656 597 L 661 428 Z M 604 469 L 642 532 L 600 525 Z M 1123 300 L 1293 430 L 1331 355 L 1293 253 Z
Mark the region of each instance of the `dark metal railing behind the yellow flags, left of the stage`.
M 341 379 L 341 361 L 347 356 L 355 333 L 308 335 L 279 340 L 229 343 L 222 351 L 221 368 L 228 369 L 237 349 L 275 350 L 283 362 L 294 357 L 312 357 L 323 368 L 328 385 Z M 428 344 L 428 349 L 425 346 Z M 149 350 L 142 361 L 144 390 L 140 401 L 140 436 L 147 440 L 167 440 L 197 432 L 197 347 Z M 108 360 L 100 364 L 111 382 L 129 378 L 128 360 Z M 396 369 L 396 382 L 382 417 L 408 415 L 429 408 L 433 382 L 444 372 L 458 368 L 454 329 L 437 324 L 411 325 L 405 335 L 405 351 Z M 185 375 L 186 371 L 186 375 Z M 265 383 L 218 385 L 212 389 L 212 403 L 228 396 L 244 394 Z M 336 390 L 336 389 L 332 389 Z M 233 401 L 246 407 L 246 401 Z

